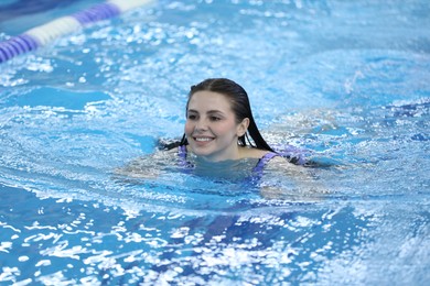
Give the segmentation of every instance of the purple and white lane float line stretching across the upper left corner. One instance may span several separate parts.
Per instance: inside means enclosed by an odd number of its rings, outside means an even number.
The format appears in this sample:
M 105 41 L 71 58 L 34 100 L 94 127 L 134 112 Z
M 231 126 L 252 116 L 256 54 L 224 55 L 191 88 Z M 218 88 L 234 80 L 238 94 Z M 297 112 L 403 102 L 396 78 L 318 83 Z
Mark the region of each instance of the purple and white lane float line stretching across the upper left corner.
M 0 42 L 0 64 L 15 56 L 35 51 L 53 40 L 72 33 L 85 25 L 117 16 L 128 10 L 148 4 L 152 1 L 111 0 L 33 28 L 21 35 Z

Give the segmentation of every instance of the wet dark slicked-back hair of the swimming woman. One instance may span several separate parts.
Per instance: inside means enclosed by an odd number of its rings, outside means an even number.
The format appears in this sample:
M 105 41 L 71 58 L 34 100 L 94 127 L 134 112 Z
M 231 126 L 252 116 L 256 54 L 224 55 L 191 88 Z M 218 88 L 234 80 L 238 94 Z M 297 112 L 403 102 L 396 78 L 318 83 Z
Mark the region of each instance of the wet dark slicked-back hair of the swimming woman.
M 257 128 L 257 124 L 252 117 L 252 111 L 249 103 L 248 94 L 245 89 L 236 84 L 235 81 L 227 78 L 208 78 L 202 82 L 192 86 L 189 92 L 189 101 L 186 102 L 186 110 L 189 110 L 190 99 L 197 91 L 213 91 L 224 95 L 232 102 L 233 112 L 236 116 L 236 122 L 240 123 L 245 118 L 249 119 L 248 131 L 238 139 L 238 144 L 246 146 L 247 142 L 250 146 L 257 147 L 260 150 L 267 150 L 273 152 L 273 150 L 267 144 L 265 139 L 261 136 L 260 131 Z M 252 139 L 254 143 L 249 140 L 249 136 Z M 183 135 L 180 145 L 187 145 L 185 134 Z

